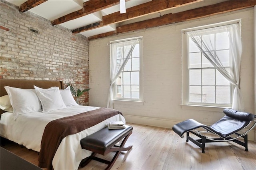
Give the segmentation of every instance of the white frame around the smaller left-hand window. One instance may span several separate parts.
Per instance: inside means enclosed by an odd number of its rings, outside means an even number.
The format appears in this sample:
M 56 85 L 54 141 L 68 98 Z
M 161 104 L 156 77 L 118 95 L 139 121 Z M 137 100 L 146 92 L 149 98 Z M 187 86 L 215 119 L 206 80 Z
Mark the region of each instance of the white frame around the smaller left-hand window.
M 123 42 L 131 39 L 124 39 L 124 40 L 117 40 L 114 42 Z M 143 101 L 143 53 L 142 53 L 142 47 L 143 47 L 143 40 L 140 38 L 138 40 L 139 43 L 139 49 L 140 49 L 140 70 L 139 70 L 139 99 L 132 99 L 132 98 L 124 98 L 124 97 L 116 97 L 116 83 L 114 83 L 113 87 L 113 100 L 114 101 Z M 121 72 L 122 73 L 122 72 Z M 115 102 L 116 103 L 116 102 Z

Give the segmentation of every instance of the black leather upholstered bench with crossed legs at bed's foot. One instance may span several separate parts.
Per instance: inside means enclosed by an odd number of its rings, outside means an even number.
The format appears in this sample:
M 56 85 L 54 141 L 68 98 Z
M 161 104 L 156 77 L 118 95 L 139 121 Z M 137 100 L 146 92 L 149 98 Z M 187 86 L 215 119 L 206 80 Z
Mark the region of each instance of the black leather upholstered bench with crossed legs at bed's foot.
M 83 139 L 81 139 L 81 146 L 83 149 L 92 151 L 91 156 L 83 159 L 80 163 L 81 167 L 86 166 L 92 159 L 97 160 L 99 162 L 103 162 L 104 164 L 108 164 L 106 170 L 109 170 L 113 164 L 116 162 L 121 151 L 127 151 L 132 148 L 132 145 L 128 147 L 124 147 L 125 142 L 127 141 L 128 137 L 132 134 L 132 127 L 124 125 L 124 129 L 112 129 L 109 130 L 108 127 L 99 130 Z M 115 144 L 118 143 L 120 140 L 122 143 L 120 146 L 116 146 Z M 98 158 L 96 154 L 105 155 L 109 152 L 116 152 L 114 157 L 111 161 L 104 160 L 102 158 Z

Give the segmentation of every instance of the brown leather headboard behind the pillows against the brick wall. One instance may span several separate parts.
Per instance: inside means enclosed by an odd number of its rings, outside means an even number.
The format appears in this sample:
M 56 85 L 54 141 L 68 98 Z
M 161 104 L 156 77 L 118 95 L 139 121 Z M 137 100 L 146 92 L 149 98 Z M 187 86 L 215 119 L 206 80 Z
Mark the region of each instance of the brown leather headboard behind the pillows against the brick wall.
M 21 89 L 34 89 L 34 85 L 43 89 L 53 86 L 59 87 L 60 89 L 64 88 L 63 81 L 0 79 L 0 96 L 7 95 L 4 86 L 17 87 Z M 2 110 L 1 113 L 3 113 Z

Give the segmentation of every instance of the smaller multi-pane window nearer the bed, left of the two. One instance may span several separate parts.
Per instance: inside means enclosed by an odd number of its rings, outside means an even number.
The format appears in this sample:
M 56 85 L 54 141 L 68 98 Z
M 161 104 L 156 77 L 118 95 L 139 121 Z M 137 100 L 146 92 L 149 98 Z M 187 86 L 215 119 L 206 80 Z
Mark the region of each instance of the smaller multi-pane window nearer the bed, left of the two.
M 120 40 L 116 46 L 116 67 L 121 69 L 114 83 L 114 99 L 142 101 L 142 40 Z M 134 45 L 134 46 L 133 46 Z M 130 56 L 128 56 L 130 52 Z M 126 56 L 128 59 L 126 61 Z

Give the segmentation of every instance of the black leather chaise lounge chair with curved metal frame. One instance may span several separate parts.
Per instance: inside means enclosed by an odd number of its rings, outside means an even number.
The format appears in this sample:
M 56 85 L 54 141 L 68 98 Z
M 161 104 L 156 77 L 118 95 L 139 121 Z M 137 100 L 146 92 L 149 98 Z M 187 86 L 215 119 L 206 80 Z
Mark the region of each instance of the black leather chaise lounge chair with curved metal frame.
M 183 134 L 187 133 L 187 139 L 192 141 L 194 144 L 202 148 L 204 153 L 205 143 L 208 142 L 228 142 L 233 141 L 245 147 L 248 151 L 248 139 L 247 133 L 254 128 L 256 125 L 256 115 L 252 113 L 245 113 L 236 111 L 233 109 L 224 109 L 223 112 L 226 114 L 222 119 L 214 123 L 212 126 L 203 125 L 194 119 L 188 119 L 180 122 L 172 127 L 172 130 L 176 132 L 180 137 L 183 138 Z M 248 127 L 246 132 L 238 134 L 238 131 Z M 196 130 L 197 128 L 204 128 L 204 131 Z M 189 132 L 198 136 L 200 139 L 194 139 L 189 136 Z M 213 133 L 219 136 L 219 138 L 209 138 L 205 133 Z M 209 136 L 209 135 L 208 135 Z M 232 136 L 232 137 L 231 137 Z M 233 137 L 234 136 L 234 137 Z M 244 142 L 237 140 L 237 138 L 244 138 Z

